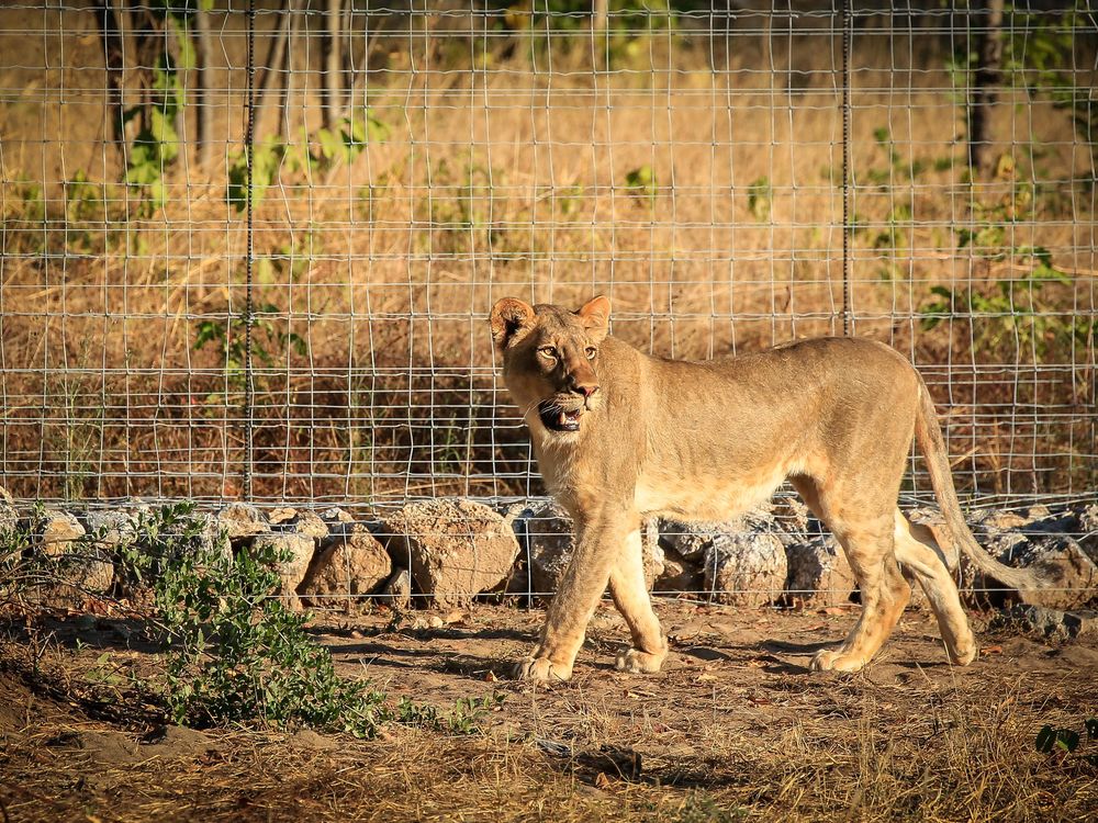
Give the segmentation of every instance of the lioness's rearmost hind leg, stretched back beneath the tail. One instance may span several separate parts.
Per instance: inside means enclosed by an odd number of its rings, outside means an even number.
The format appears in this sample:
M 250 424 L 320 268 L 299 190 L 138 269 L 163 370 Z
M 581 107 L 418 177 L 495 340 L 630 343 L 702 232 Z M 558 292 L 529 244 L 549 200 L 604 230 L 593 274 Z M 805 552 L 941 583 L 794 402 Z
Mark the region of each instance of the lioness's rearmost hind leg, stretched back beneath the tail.
M 899 509 L 896 510 L 896 559 L 906 574 L 918 580 L 927 594 L 938 628 L 945 641 L 950 662 L 965 666 L 976 657 L 976 639 L 961 608 L 957 587 L 938 552 L 920 541 Z

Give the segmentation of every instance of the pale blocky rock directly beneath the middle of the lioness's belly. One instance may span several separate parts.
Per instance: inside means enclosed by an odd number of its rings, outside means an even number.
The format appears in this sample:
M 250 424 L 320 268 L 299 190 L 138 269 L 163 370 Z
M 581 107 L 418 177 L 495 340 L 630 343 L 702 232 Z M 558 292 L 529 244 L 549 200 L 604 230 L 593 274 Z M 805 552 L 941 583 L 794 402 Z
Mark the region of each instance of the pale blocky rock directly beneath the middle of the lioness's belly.
M 788 564 L 772 533 L 718 534 L 705 556 L 705 588 L 718 602 L 762 606 L 785 589 Z

